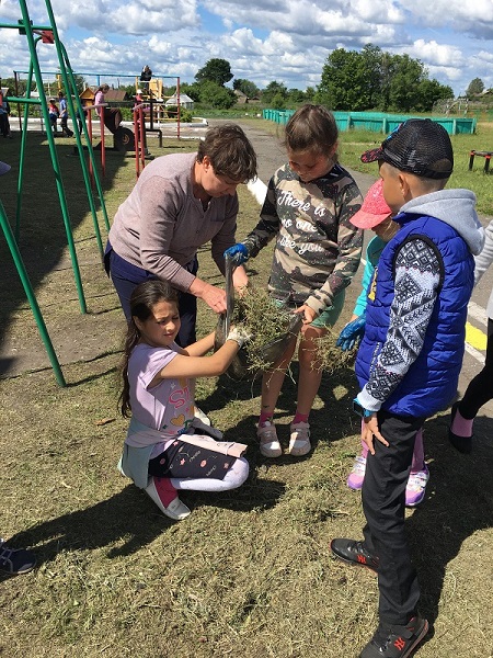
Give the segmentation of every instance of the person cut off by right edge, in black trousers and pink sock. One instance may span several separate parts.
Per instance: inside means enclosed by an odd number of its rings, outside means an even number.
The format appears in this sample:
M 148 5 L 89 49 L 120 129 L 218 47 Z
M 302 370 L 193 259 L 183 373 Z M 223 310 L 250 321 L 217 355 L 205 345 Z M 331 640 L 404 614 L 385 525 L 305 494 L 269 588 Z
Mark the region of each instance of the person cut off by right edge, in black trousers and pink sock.
M 474 285 L 493 262 L 493 220 L 486 226 L 486 240 L 484 249 L 475 257 Z M 451 408 L 448 438 L 450 443 L 461 453 L 472 450 L 472 427 L 478 411 L 489 400 L 493 399 L 493 291 L 490 294 L 486 307 L 488 315 L 488 342 L 484 366 L 469 383 L 461 400 Z

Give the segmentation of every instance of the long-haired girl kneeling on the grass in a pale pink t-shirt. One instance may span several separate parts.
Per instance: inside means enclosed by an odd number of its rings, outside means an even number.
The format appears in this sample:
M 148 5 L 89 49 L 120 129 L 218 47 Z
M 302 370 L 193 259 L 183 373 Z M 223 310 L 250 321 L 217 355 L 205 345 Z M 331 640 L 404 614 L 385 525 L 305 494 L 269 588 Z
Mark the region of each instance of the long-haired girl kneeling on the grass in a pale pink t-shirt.
M 180 330 L 177 296 L 165 282 L 139 284 L 130 297 L 131 321 L 122 367 L 122 413 L 130 417 L 119 469 L 152 498 L 170 519 L 191 510 L 177 489 L 226 491 L 242 485 L 249 464 L 241 443 L 218 442 L 222 433 L 194 417 L 196 377 L 222 374 L 248 336 L 232 328 L 213 355 L 214 332 L 186 349 Z

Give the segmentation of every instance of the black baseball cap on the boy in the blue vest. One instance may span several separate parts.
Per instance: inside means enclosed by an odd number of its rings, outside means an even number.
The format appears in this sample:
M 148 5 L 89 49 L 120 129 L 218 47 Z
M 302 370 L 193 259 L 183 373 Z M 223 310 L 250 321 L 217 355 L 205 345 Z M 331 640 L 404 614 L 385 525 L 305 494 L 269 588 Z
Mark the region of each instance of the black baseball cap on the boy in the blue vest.
M 422 178 L 446 179 L 454 171 L 454 149 L 447 131 L 431 118 L 409 118 L 381 143 L 365 151 L 362 162 L 383 160 Z

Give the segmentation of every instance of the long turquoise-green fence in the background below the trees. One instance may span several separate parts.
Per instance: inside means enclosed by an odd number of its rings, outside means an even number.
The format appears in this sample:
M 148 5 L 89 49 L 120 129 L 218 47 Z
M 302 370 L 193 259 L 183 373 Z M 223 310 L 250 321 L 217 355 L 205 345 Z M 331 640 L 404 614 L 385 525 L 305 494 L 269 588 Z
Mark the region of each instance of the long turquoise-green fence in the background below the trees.
M 295 114 L 295 110 L 264 110 L 263 118 L 286 124 Z M 385 114 L 383 112 L 334 112 L 337 128 L 343 133 L 351 129 L 371 131 L 388 135 L 408 118 L 423 118 L 422 116 L 410 116 L 408 114 Z M 432 121 L 444 126 L 449 135 L 475 133 L 475 118 L 429 117 Z

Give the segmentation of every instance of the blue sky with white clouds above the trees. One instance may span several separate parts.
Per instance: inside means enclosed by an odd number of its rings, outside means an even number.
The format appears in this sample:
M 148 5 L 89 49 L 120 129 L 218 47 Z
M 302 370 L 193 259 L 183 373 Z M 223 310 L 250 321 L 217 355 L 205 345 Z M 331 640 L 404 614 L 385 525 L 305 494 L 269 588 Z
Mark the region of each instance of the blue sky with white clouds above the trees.
M 47 22 L 44 1 L 26 2 L 34 22 Z M 219 57 L 236 78 L 261 89 L 273 80 L 306 89 L 320 82 L 334 48 L 371 43 L 420 59 L 456 95 L 473 78 L 493 87 L 493 0 L 53 0 L 51 7 L 76 71 L 138 75 L 149 64 L 193 82 Z M 0 0 L 0 22 L 20 18 L 18 0 Z M 39 45 L 38 56 L 44 70 L 57 69 L 53 46 Z M 3 29 L 0 75 L 28 63 L 25 37 Z

